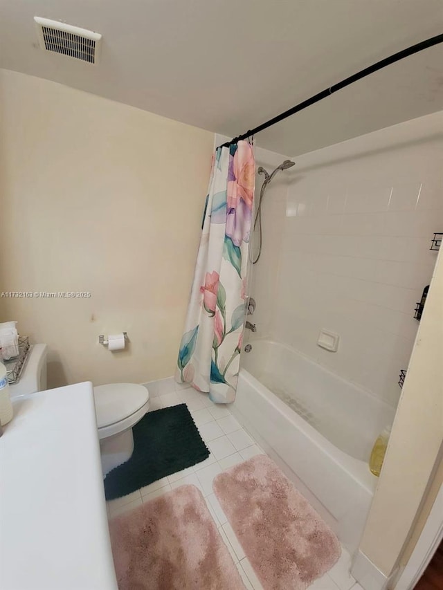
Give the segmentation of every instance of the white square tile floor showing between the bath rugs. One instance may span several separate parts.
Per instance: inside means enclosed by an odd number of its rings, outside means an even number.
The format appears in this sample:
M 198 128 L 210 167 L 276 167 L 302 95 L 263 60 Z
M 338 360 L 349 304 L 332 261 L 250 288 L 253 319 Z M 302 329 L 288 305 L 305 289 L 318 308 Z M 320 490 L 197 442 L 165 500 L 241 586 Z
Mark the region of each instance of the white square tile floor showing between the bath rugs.
M 228 523 L 217 497 L 213 493 L 214 477 L 223 470 L 250 459 L 263 451 L 230 414 L 228 407 L 214 404 L 208 396 L 194 389 L 183 387 L 174 380 L 167 379 L 149 384 L 150 412 L 161 407 L 186 403 L 199 428 L 201 438 L 210 450 L 205 461 L 183 471 L 163 477 L 145 488 L 136 490 L 123 498 L 107 502 L 108 515 L 114 517 L 127 510 L 141 506 L 143 502 L 158 497 L 174 488 L 192 483 L 201 490 L 210 514 L 213 516 L 230 555 L 233 557 L 239 574 L 248 590 L 262 590 L 242 546 L 237 541 L 233 528 Z M 336 565 L 316 580 L 310 590 L 363 590 L 349 573 L 350 554 L 343 548 Z

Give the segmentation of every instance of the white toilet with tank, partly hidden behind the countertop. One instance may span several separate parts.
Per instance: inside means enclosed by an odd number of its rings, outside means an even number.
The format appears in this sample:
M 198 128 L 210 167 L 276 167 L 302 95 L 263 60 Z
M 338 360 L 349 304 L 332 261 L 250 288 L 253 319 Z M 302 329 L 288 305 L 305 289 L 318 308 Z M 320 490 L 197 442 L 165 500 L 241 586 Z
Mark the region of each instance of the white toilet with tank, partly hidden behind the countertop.
M 46 344 L 33 344 L 17 383 L 10 385 L 12 399 L 47 389 Z M 134 450 L 132 427 L 149 408 L 150 394 L 143 385 L 109 383 L 93 388 L 103 477 L 125 463 Z

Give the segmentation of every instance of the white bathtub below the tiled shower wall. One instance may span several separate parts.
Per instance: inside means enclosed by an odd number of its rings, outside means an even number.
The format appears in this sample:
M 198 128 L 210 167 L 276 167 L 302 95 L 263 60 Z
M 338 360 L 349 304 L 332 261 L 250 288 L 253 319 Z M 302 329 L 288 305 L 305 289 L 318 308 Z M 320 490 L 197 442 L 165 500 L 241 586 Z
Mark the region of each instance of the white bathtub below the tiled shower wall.
M 378 481 L 372 445 L 395 408 L 284 344 L 252 346 L 231 412 L 352 552 Z

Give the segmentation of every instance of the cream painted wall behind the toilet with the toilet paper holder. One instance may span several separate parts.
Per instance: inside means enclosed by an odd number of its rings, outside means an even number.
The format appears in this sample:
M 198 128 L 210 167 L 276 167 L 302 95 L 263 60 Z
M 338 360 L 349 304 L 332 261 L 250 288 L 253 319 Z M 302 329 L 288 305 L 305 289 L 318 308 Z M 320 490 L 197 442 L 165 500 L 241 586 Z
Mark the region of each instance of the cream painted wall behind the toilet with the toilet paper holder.
M 174 373 L 213 133 L 0 71 L 0 321 L 49 346 L 49 385 Z M 127 331 L 111 353 L 99 334 Z

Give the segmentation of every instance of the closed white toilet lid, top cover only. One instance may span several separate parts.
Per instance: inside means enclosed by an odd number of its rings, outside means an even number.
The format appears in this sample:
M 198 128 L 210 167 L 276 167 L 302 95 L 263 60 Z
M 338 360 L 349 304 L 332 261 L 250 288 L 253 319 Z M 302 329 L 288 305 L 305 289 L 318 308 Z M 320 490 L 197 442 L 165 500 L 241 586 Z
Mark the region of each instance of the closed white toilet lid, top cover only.
M 146 387 L 136 383 L 109 383 L 94 387 L 98 428 L 125 420 L 143 407 L 149 398 Z

